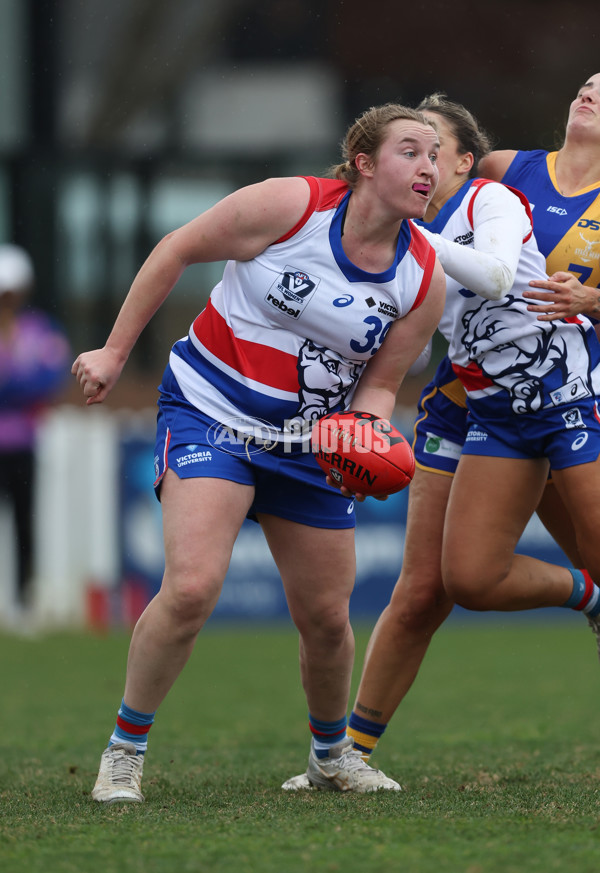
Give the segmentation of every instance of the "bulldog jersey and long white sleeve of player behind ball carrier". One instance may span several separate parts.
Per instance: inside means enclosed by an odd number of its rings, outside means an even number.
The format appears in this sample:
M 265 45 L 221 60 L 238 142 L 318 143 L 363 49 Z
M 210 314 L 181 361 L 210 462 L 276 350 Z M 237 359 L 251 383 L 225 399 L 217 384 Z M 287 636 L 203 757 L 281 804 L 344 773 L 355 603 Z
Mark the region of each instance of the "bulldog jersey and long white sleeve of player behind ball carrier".
M 546 273 L 524 203 L 498 183 L 474 180 L 450 198 L 429 225 L 431 230 L 439 228 L 436 248 L 447 275 L 440 330 L 475 417 L 485 416 L 490 408 L 486 398 L 494 398 L 497 418 L 499 403 L 505 407 L 503 415 L 526 414 L 573 406 L 600 387 L 600 346 L 589 319 L 540 322 L 528 311 L 523 291 L 531 280 L 544 280 Z M 507 216 L 516 242 L 507 239 Z M 494 230 L 498 221 L 502 236 Z M 450 245 L 446 240 L 452 241 Z M 494 269 L 487 264 L 488 252 L 497 261 Z M 509 270 L 514 283 L 506 294 L 504 274 Z M 467 284 L 479 294 L 467 290 Z M 580 420 L 580 413 L 575 419 Z

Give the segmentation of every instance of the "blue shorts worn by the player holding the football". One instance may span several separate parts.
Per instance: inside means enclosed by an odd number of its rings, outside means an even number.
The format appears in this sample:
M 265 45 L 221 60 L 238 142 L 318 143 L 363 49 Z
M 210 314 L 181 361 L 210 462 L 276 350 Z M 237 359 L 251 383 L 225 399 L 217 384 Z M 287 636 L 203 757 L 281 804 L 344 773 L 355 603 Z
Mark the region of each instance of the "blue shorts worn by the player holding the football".
M 269 449 L 230 430 L 224 433 L 218 422 L 169 392 L 161 392 L 158 407 L 154 489 L 159 499 L 162 477 L 170 468 L 180 479 L 208 477 L 253 485 L 248 512 L 253 521 L 264 512 L 311 527 L 355 526 L 354 500 L 327 485 L 310 451 Z

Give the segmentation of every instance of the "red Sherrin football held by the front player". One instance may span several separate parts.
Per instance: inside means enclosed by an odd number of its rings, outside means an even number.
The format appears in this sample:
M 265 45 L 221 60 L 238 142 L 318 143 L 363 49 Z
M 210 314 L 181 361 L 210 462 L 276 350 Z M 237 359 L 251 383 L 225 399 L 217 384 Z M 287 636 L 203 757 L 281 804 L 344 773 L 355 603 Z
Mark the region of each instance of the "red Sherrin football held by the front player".
M 406 488 L 415 472 L 410 444 L 385 418 L 368 412 L 332 412 L 312 429 L 321 469 L 354 493 L 384 497 Z

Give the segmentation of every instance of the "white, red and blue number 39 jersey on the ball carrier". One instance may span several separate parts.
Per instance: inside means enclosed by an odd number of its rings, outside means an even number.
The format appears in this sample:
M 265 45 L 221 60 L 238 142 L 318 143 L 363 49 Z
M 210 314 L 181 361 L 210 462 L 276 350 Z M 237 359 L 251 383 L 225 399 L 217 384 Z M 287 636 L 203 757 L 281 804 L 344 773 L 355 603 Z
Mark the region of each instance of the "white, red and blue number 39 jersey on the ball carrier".
M 211 418 L 246 433 L 268 422 L 292 442 L 349 405 L 389 326 L 424 300 L 435 263 L 405 220 L 391 267 L 357 268 L 342 247 L 347 184 L 304 178 L 302 219 L 252 260 L 227 262 L 169 360 L 185 398 Z

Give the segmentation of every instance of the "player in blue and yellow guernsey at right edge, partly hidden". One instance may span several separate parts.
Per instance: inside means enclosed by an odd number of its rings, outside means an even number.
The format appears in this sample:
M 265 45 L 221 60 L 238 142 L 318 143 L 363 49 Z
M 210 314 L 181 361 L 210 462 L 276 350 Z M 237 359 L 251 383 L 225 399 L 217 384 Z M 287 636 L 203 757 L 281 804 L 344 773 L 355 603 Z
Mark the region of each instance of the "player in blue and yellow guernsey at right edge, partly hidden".
M 458 108 L 449 116 L 427 101 L 423 106 L 441 112 L 452 131 L 451 160 L 458 187 L 461 176 L 478 172 L 518 188 L 530 202 L 534 231 L 550 274 L 549 281 L 533 283 L 539 290 L 523 292 L 539 319 L 568 318 L 580 312 L 599 318 L 600 74 L 579 89 L 570 107 L 564 144 L 555 152 L 498 151 L 486 157 L 488 141 L 469 113 Z M 442 153 L 443 149 L 442 138 Z M 436 202 L 444 202 L 441 187 L 440 182 L 427 222 L 438 215 Z M 415 434 L 418 469 L 409 495 L 402 572 L 373 632 L 350 717 L 348 732 L 365 757 L 412 685 L 433 634 L 453 606 L 442 585 L 440 541 L 466 434 L 466 408 L 463 386 L 447 358 L 422 394 Z M 561 535 L 564 512 L 552 485 L 546 487 L 538 512 L 574 566 L 583 566 L 573 537 Z M 600 624 L 591 614 L 597 606 L 597 586 L 583 574 L 573 581 L 573 592 L 564 605 L 587 613 L 598 636 Z

